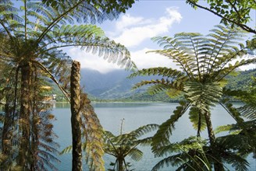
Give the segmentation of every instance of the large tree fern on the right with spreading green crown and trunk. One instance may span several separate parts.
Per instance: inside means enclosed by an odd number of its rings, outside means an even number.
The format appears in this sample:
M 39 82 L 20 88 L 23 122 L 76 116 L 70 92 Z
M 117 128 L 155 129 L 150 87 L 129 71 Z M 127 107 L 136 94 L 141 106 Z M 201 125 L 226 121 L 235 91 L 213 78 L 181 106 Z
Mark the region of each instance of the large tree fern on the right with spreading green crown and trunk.
M 255 58 L 236 61 L 246 53 L 246 48 L 240 44 L 244 33 L 240 30 L 215 26 L 212 33 L 203 37 L 200 33 L 176 33 L 174 37 L 154 37 L 163 50 L 149 51 L 162 54 L 171 59 L 181 70 L 172 68 L 148 68 L 134 72 L 137 75 L 161 75 L 162 79 L 137 83 L 135 88 L 153 85 L 155 92 L 172 89 L 176 94 L 183 94 L 185 103 L 173 112 L 169 120 L 159 126 L 159 130 L 152 138 L 152 150 L 155 155 L 161 154 L 161 148 L 169 145 L 169 138 L 174 130 L 174 124 L 189 109 L 192 124 L 197 129 L 197 137 L 207 127 L 210 141 L 209 149 L 215 160 L 209 160 L 215 170 L 223 170 L 222 151 L 212 130 L 211 106 L 220 102 L 226 76 L 236 68 L 255 62 Z M 236 61 L 231 64 L 230 61 Z M 152 91 L 152 90 L 151 90 Z M 225 108 L 227 111 L 231 108 Z M 230 113 L 233 117 L 234 114 Z M 236 121 L 240 116 L 236 115 Z M 243 121 L 241 120 L 241 123 Z M 174 159 L 174 158 L 172 158 Z

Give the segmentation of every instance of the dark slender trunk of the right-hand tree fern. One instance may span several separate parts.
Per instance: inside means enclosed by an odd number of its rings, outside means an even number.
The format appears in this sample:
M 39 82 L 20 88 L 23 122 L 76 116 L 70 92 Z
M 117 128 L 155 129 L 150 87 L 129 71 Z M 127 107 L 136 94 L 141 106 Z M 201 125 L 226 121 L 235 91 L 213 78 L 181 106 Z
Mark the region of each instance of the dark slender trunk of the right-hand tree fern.
M 210 117 L 210 113 L 205 112 L 204 113 L 204 117 L 205 117 L 205 121 L 206 121 L 206 125 L 207 125 L 207 129 L 208 129 L 208 137 L 210 140 L 210 145 L 212 148 L 212 155 L 215 158 L 214 159 L 214 169 L 215 171 L 224 171 L 224 166 L 222 163 L 222 160 L 219 156 L 219 152 L 218 152 L 218 148 L 216 147 L 215 144 L 215 134 L 212 128 L 212 121 L 211 121 L 211 117 Z

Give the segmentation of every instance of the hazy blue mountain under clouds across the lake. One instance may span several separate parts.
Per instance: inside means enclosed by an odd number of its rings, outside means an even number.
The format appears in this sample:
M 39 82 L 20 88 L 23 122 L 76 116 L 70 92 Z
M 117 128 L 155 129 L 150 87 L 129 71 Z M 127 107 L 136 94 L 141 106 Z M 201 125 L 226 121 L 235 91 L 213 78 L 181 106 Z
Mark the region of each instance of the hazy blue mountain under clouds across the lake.
M 81 86 L 85 92 L 98 99 L 123 99 L 140 92 L 145 92 L 145 87 L 132 90 L 132 87 L 141 80 L 157 79 L 158 76 L 145 76 L 127 79 L 131 72 L 114 70 L 102 74 L 101 72 L 82 68 Z

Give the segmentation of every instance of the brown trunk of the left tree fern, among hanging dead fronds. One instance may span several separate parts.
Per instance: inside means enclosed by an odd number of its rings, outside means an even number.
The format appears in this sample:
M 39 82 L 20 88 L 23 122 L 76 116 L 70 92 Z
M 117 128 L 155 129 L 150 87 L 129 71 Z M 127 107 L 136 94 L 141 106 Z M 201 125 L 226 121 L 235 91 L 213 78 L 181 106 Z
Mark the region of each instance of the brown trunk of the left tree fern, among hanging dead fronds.
M 31 99 L 31 64 L 24 62 L 21 66 L 20 86 L 20 140 L 19 165 L 26 169 L 30 150 L 30 99 Z

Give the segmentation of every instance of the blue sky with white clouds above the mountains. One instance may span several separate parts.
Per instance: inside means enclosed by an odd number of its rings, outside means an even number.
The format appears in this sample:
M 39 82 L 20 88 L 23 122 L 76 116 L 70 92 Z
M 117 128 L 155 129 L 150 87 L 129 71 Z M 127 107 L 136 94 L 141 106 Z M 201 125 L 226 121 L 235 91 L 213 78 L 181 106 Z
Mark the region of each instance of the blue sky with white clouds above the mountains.
M 254 21 L 249 23 L 255 26 L 256 12 L 253 12 Z M 183 0 L 140 0 L 133 4 L 125 14 L 113 21 L 105 21 L 101 25 L 105 35 L 123 44 L 130 51 L 132 61 L 137 68 L 169 67 L 178 68 L 168 58 L 148 53 L 147 51 L 161 49 L 152 42 L 151 37 L 168 36 L 175 33 L 195 32 L 207 35 L 220 18 L 202 9 L 193 9 Z M 101 73 L 121 69 L 116 64 L 108 63 L 97 55 L 88 54 L 78 47 L 70 48 L 67 53 L 73 60 L 80 61 L 81 68 L 91 68 Z M 256 68 L 251 65 L 246 68 Z

